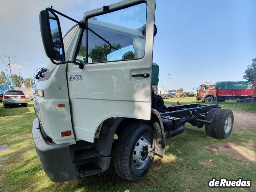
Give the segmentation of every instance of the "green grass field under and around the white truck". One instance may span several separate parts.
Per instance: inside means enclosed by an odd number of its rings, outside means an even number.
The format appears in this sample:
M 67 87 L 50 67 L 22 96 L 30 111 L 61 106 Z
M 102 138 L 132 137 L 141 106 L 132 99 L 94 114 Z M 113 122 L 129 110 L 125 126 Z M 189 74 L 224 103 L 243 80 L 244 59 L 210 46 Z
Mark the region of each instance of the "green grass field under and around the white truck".
M 196 103 L 195 98 L 173 98 L 165 104 Z M 221 102 L 234 108 L 233 102 Z M 256 108 L 239 105 L 240 110 Z M 208 188 L 212 177 L 252 180 L 251 188 L 222 188 L 221 191 L 256 191 L 256 162 L 234 158 L 225 152 L 206 150 L 212 146 L 238 146 L 233 152 L 255 155 L 256 128 L 234 127 L 226 139 L 208 137 L 204 128 L 186 124 L 185 132 L 167 140 L 164 158 L 155 157 L 150 170 L 138 182 L 127 182 L 116 174 L 114 167 L 101 174 L 67 182 L 51 182 L 42 170 L 32 139 L 35 118 L 33 102 L 28 107 L 4 109 L 0 103 L 0 192 L 6 191 L 74 191 L 74 192 L 150 192 L 150 191 L 219 191 Z M 255 116 L 256 118 L 256 116 Z M 248 147 L 252 146 L 252 147 Z

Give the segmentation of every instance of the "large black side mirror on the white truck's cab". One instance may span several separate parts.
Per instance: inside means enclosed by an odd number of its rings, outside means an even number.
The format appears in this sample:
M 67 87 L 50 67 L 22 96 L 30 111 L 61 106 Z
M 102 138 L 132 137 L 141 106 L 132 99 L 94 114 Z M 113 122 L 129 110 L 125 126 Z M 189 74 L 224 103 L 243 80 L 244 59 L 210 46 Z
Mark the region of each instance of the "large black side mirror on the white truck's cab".
M 39 22 L 46 55 L 52 60 L 64 62 L 65 52 L 58 16 L 46 8 L 40 12 Z

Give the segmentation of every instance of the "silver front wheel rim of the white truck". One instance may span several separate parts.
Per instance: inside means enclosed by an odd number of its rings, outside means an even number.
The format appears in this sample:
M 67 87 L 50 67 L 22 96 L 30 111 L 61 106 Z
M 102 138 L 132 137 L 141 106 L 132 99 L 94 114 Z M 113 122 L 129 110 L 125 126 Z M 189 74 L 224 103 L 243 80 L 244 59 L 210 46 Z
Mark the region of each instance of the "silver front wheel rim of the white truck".
M 132 154 L 132 162 L 136 169 L 143 168 L 152 156 L 152 144 L 148 136 L 142 136 L 136 142 Z

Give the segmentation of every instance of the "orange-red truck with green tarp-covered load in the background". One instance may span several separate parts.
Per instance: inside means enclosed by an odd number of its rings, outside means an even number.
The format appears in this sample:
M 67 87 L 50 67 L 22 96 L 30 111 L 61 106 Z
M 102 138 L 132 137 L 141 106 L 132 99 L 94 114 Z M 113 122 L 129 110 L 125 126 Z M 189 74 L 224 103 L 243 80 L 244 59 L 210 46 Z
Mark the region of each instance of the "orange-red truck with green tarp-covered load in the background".
M 196 100 L 212 103 L 214 101 L 244 99 L 251 97 L 252 93 L 252 84 L 247 81 L 222 81 L 216 82 L 216 84 L 204 83 L 199 87 Z

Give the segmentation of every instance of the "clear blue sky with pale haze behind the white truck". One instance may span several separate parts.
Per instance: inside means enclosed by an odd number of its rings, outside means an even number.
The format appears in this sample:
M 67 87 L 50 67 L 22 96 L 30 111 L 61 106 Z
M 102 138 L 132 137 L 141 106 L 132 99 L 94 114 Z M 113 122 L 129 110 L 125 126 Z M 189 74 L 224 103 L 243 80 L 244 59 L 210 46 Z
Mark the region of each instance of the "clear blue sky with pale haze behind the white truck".
M 2 2 L 0 56 L 17 56 L 12 73 L 23 77 L 46 66 L 40 36 L 40 10 L 56 10 L 80 20 L 85 11 L 119 0 L 52 0 Z M 4 7 L 4 9 L 3 9 Z M 28 10 L 29 7 L 29 10 Z M 10 10 L 15 10 L 10 14 Z M 242 80 L 244 70 L 256 58 L 255 0 L 157 0 L 158 34 L 154 38 L 153 62 L 160 66 L 159 86 L 191 90 L 202 82 Z M 63 34 L 73 25 L 60 17 Z M 11 58 L 11 64 L 14 59 Z M 0 71 L 5 64 L 0 60 Z

